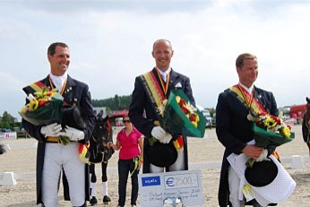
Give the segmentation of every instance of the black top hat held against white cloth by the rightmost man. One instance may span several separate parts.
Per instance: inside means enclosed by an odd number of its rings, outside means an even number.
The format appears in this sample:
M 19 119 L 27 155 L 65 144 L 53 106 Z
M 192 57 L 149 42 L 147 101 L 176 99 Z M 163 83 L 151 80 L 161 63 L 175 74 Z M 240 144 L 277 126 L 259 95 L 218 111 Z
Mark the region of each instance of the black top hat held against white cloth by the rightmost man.
M 278 167 L 273 160 L 255 161 L 252 167 L 245 169 L 246 181 L 256 187 L 271 184 L 277 175 Z

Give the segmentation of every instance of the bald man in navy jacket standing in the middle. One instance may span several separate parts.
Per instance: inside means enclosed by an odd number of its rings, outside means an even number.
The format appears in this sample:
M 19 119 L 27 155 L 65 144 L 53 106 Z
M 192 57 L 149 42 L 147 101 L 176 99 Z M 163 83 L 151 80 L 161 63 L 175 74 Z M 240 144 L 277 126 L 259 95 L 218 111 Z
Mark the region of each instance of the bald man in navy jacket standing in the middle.
M 181 89 L 185 91 L 186 96 L 194 104 L 193 92 L 188 77 L 181 73 L 175 72 L 170 67 L 170 61 L 173 56 L 173 49 L 170 41 L 167 39 L 158 39 L 153 44 L 152 56 L 155 59 L 156 66 L 151 70 L 153 82 L 158 85 L 159 93 L 162 93 L 165 99 L 173 89 Z M 144 162 L 143 173 L 163 172 L 164 168 L 151 164 L 148 158 L 150 150 L 149 139 L 154 137 L 158 142 L 172 142 L 172 135 L 166 132 L 161 126 L 155 125 L 158 115 L 152 106 L 151 98 L 145 91 L 142 79 L 136 77 L 134 82 L 133 97 L 129 108 L 129 117 L 133 125 L 145 136 L 144 142 Z M 177 151 L 177 160 L 172 165 L 167 166 L 167 171 L 188 169 L 187 158 L 187 139 L 183 136 L 183 149 Z M 168 158 L 167 158 L 168 159 Z

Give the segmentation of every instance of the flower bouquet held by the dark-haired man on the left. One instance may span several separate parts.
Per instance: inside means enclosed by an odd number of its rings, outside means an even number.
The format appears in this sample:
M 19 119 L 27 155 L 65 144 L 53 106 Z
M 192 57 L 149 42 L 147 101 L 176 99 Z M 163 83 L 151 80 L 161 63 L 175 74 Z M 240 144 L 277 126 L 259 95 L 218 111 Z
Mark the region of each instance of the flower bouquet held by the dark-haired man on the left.
M 32 125 L 61 123 L 63 116 L 63 97 L 57 90 L 48 91 L 46 87 L 33 95 L 29 94 L 29 103 L 22 107 L 19 114 Z

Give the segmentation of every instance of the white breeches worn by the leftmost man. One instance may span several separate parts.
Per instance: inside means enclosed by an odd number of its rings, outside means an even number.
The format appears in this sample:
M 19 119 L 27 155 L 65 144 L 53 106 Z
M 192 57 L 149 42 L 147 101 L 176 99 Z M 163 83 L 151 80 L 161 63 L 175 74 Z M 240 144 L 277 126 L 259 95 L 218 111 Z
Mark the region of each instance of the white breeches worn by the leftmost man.
M 68 180 L 73 206 L 85 202 L 85 163 L 79 160 L 79 143 L 46 143 L 42 172 L 42 201 L 46 207 L 56 207 L 58 182 L 62 168 Z

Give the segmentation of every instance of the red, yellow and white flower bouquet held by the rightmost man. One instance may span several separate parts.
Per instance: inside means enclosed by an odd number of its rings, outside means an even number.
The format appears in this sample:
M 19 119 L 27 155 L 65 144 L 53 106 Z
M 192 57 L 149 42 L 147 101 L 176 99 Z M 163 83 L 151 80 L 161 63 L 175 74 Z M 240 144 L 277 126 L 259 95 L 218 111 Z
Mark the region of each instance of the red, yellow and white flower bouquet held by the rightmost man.
M 253 132 L 255 145 L 263 148 L 269 145 L 280 146 L 295 138 L 289 125 L 286 125 L 279 117 L 267 113 L 260 113 L 255 117 Z M 249 159 L 246 166 L 251 167 L 253 163 L 254 159 Z

